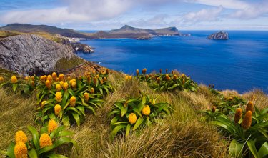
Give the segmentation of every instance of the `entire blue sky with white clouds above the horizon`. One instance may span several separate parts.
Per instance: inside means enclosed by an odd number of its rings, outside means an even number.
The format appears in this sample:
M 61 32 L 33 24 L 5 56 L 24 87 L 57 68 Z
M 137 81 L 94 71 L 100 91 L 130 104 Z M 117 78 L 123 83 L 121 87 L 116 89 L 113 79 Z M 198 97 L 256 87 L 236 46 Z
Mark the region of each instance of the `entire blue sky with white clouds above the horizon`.
M 124 24 L 180 30 L 268 30 L 268 0 L 0 0 L 0 26 L 108 30 Z

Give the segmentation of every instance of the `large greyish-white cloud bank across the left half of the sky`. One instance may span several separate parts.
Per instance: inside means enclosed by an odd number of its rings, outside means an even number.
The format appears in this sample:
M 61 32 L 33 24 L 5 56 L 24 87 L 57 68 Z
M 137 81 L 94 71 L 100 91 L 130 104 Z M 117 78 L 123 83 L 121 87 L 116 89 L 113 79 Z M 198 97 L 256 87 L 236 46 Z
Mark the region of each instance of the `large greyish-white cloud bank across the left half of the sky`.
M 110 19 L 131 7 L 128 0 L 62 0 L 66 7 L 8 11 L 0 15 L 4 24 L 19 23 L 66 23 Z

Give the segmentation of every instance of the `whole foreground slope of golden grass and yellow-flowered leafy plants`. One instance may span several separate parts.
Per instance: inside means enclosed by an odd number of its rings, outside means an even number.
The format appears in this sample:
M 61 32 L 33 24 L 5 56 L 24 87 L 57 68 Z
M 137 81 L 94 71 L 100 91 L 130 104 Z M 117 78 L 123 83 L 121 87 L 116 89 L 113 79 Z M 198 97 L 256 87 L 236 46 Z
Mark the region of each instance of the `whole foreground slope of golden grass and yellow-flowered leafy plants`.
M 1 74 L 2 156 L 267 157 L 266 94 L 146 73 Z

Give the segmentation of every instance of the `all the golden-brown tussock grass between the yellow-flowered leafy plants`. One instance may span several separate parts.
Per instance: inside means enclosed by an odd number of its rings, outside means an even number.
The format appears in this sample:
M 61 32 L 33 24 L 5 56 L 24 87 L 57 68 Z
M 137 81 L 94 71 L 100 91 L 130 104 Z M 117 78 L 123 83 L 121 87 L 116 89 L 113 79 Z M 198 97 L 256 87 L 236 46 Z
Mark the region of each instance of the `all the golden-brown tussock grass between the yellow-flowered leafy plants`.
M 221 137 L 217 129 L 200 118 L 199 110 L 211 109 L 216 97 L 208 87 L 200 85 L 198 92 L 154 92 L 147 84 L 133 79 L 124 81 L 124 74 L 111 72 L 109 80 L 116 91 L 107 96 L 103 107 L 96 114 L 87 114 L 84 124 L 70 127 L 74 132 L 76 147 L 64 146 L 68 157 L 229 157 L 228 139 Z M 107 117 L 112 105 L 124 97 L 137 97 L 139 90 L 152 97 L 159 96 L 157 102 L 169 102 L 174 112 L 165 119 L 157 119 L 156 124 L 132 132 L 129 137 L 109 140 L 110 120 Z M 234 94 L 224 91 L 224 96 Z M 267 107 L 267 94 L 253 90 L 242 94 L 244 99 L 257 97 L 257 107 Z M 23 97 L 8 90 L 0 89 L 0 130 L 2 132 L 0 150 L 6 149 L 14 140 L 17 130 L 26 131 L 26 125 L 34 124 L 34 97 Z

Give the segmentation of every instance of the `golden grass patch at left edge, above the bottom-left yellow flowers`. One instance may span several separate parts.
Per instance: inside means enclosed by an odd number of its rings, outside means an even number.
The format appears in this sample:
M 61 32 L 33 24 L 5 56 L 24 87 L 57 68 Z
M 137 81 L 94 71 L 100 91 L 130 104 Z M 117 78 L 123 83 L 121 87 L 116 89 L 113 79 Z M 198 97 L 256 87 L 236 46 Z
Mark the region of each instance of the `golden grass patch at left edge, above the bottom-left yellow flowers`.
M 28 125 L 34 125 L 35 97 L 26 98 L 9 89 L 0 88 L 0 151 L 14 140 L 18 130 L 26 132 Z M 2 155 L 4 157 L 4 155 Z

